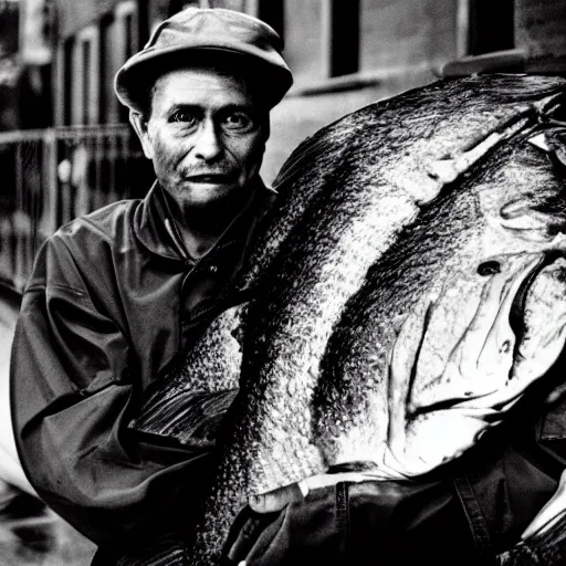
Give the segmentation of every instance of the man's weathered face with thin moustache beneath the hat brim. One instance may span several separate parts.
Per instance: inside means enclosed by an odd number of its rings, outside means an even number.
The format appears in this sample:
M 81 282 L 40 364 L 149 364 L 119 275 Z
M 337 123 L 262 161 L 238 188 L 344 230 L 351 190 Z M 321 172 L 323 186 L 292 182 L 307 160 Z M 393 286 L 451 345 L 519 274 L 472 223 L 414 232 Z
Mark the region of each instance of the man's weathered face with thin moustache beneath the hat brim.
M 181 208 L 245 198 L 268 119 L 243 80 L 212 69 L 171 71 L 155 84 L 148 120 L 138 120 L 144 153 Z

